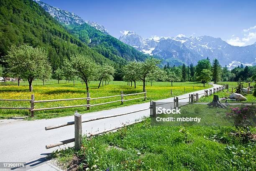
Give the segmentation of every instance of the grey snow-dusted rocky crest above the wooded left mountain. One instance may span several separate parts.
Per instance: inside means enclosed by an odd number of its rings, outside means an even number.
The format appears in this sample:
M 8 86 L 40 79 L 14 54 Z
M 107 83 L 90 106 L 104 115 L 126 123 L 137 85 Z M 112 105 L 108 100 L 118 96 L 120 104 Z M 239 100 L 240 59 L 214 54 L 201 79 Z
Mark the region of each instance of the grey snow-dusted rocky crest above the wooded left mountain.
M 42 8 L 44 8 L 44 10 L 46 10 L 46 12 L 48 12 L 51 16 L 53 16 L 54 18 L 56 18 L 56 20 L 58 20 L 59 22 L 65 23 L 65 24 L 84 24 L 87 23 L 90 26 L 96 28 L 99 31 L 102 31 L 105 34 L 109 34 L 108 30 L 98 24 L 95 23 L 93 21 L 90 20 L 83 20 L 82 18 L 80 18 L 78 15 L 76 15 L 75 13 L 70 13 L 69 11 L 66 10 L 62 10 L 56 7 L 52 7 L 51 5 L 48 5 L 40 0 L 34 0 L 36 1 Z

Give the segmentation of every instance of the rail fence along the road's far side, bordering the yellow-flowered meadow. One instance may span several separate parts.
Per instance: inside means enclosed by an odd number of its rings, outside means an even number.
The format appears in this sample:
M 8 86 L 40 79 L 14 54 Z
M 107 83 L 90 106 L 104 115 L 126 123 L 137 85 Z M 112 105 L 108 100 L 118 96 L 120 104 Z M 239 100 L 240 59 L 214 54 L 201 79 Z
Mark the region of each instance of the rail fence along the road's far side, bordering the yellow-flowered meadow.
M 120 92 L 119 95 L 113 95 L 113 96 L 107 96 L 107 97 L 96 97 L 96 98 L 91 98 L 90 97 L 90 93 L 87 93 L 87 97 L 82 97 L 82 98 L 74 98 L 74 99 L 55 99 L 55 100 L 38 100 L 35 101 L 35 95 L 31 94 L 31 99 L 29 100 L 10 100 L 10 99 L 0 99 L 0 101 L 28 101 L 30 102 L 30 106 L 31 107 L 0 107 L 0 109 L 14 109 L 14 110 L 29 110 L 31 113 L 31 117 L 34 117 L 34 111 L 41 111 L 41 110 L 54 110 L 54 109 L 64 109 L 64 108 L 71 108 L 71 107 L 87 107 L 87 110 L 90 109 L 90 107 L 93 106 L 98 106 L 98 105 L 105 105 L 105 104 L 109 104 L 109 103 L 115 103 L 115 102 L 121 102 L 121 104 L 123 105 L 123 102 L 127 102 L 130 100 L 137 100 L 137 99 L 144 99 L 146 100 L 147 96 L 146 96 L 147 92 L 140 92 L 140 93 L 133 93 L 133 94 L 123 94 L 123 91 Z M 131 95 L 137 95 L 137 94 L 144 94 L 143 97 L 137 97 L 137 98 L 133 98 L 133 99 L 127 99 L 125 100 L 124 97 L 126 96 L 131 96 Z M 104 98 L 111 98 L 111 97 L 121 97 L 120 100 L 115 100 L 115 101 L 111 101 L 111 102 L 105 102 L 105 103 L 99 103 L 99 104 L 95 104 L 95 105 L 91 105 L 90 101 L 91 100 L 97 100 L 97 99 L 104 99 Z M 48 107 L 48 108 L 39 108 L 39 109 L 35 109 L 34 108 L 34 104 L 35 103 L 45 103 L 45 102 L 59 102 L 59 101 L 69 101 L 69 100 L 86 100 L 87 104 L 86 105 L 74 105 L 74 106 L 60 106 L 60 107 Z

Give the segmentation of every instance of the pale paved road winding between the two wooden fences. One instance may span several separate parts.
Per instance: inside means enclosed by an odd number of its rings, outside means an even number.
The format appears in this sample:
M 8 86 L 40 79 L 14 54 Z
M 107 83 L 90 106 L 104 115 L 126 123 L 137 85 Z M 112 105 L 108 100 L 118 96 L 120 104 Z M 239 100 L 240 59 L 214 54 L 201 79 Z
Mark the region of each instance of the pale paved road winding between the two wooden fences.
M 213 86 L 219 87 L 219 85 L 215 84 L 213 84 Z M 214 87 L 209 89 L 213 89 Z M 204 91 L 205 90 L 199 90 L 194 93 L 200 94 Z M 183 94 L 178 97 L 179 99 L 182 99 L 184 97 L 188 97 L 189 94 L 192 93 Z M 202 95 L 200 95 L 200 97 Z M 173 99 L 174 98 L 171 97 L 159 101 L 170 102 L 173 101 Z M 188 99 L 179 100 L 179 102 L 188 102 Z M 146 107 L 149 107 L 149 102 L 126 107 L 119 107 L 111 110 L 86 113 L 82 115 L 82 120 L 139 110 Z M 141 117 L 148 117 L 149 115 L 150 111 L 145 110 L 129 115 L 83 123 L 83 134 L 94 133 L 98 130 L 100 131 L 117 127 L 120 126 L 122 123 L 130 123 L 134 120 L 140 119 Z M 61 140 L 74 138 L 74 125 L 47 131 L 44 130 L 45 126 L 59 125 L 73 120 L 74 116 L 34 121 L 0 120 L 0 162 L 26 162 L 27 168 L 25 170 L 45 163 L 45 161 L 47 160 L 45 157 L 49 153 L 55 151 L 56 149 L 67 147 L 67 145 L 62 145 L 61 147 L 51 148 L 47 150 L 45 148 L 45 145 L 57 143 Z M 69 145 L 73 144 L 71 143 Z M 20 169 L 17 168 L 14 170 Z

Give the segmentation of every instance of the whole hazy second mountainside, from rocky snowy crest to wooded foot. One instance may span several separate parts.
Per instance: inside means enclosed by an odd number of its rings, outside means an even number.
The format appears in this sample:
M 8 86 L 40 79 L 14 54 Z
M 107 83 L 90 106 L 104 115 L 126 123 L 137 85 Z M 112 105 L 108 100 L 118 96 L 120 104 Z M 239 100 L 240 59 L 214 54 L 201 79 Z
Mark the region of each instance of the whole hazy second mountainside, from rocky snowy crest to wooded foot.
M 52 17 L 62 23 L 70 33 L 73 33 L 73 35 L 103 56 L 121 65 L 125 64 L 126 60 L 143 61 L 148 56 L 110 36 L 106 28 L 98 23 L 83 20 L 74 13 L 53 7 L 42 1 L 37 1 L 37 3 Z

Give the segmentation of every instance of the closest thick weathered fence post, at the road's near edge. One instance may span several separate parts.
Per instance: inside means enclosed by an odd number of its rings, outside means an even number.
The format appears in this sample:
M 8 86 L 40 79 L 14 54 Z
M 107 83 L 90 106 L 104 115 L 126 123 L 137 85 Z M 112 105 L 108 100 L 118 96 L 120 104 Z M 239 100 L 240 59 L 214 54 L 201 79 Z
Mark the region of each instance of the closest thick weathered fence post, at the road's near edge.
M 82 115 L 74 114 L 74 127 L 75 127 L 75 150 L 78 151 L 82 147 Z

